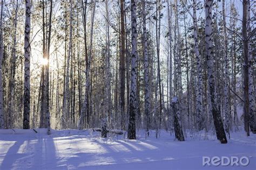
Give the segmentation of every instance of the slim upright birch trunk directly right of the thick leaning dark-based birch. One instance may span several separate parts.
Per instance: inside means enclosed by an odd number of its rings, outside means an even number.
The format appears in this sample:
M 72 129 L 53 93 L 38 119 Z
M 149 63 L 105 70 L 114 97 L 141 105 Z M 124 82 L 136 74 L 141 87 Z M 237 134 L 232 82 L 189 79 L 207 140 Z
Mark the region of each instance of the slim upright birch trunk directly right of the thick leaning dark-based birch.
M 231 120 L 231 112 L 230 112 L 230 104 L 228 101 L 228 57 L 227 57 L 227 32 L 226 32 L 226 10 L 225 10 L 225 0 L 223 0 L 223 26 L 224 26 L 224 59 L 225 59 L 225 70 L 224 70 L 224 112 L 225 112 L 225 131 L 230 133 L 230 120 Z

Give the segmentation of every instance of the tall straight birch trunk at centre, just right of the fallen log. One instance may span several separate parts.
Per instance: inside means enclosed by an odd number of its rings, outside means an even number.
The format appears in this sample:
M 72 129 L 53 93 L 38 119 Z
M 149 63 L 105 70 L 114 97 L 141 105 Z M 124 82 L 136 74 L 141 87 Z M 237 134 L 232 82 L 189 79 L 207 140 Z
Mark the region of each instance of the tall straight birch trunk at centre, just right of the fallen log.
M 136 139 L 136 112 L 137 112 L 137 0 L 131 0 L 131 27 L 132 27 L 132 57 L 131 57 L 131 82 L 129 97 L 129 124 L 127 137 Z

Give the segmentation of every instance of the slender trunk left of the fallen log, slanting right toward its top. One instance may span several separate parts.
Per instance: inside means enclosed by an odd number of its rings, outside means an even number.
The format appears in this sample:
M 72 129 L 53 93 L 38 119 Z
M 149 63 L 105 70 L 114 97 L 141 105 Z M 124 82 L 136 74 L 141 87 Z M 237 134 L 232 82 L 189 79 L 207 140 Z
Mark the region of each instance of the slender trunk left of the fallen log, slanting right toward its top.
M 91 32 L 90 32 L 90 47 L 89 47 L 89 58 L 88 58 L 88 66 L 85 70 L 86 81 L 85 81 L 85 96 L 84 103 L 80 113 L 78 129 L 83 129 L 86 123 L 86 127 L 89 124 L 89 90 L 90 90 L 90 70 L 91 70 L 91 59 L 92 59 L 92 45 L 93 45 L 93 25 L 95 19 L 95 1 L 92 1 L 92 11 L 91 11 Z M 85 120 L 86 119 L 86 120 Z M 86 121 L 86 122 L 85 122 Z

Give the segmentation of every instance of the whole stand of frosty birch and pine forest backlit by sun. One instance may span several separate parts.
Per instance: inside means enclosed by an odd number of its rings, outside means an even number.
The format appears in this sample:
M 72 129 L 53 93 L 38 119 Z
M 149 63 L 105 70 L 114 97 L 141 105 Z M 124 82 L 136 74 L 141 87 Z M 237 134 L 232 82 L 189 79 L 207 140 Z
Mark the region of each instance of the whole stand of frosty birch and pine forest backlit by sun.
M 255 4 L 238 3 L 2 0 L 0 128 L 255 133 Z

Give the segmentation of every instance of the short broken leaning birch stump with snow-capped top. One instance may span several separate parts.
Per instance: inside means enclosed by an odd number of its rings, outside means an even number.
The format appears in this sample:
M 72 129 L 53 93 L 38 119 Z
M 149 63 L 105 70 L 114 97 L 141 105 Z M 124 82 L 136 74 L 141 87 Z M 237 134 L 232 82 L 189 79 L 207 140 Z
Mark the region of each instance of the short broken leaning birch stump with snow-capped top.
M 172 112 L 173 112 L 173 124 L 174 124 L 174 132 L 175 137 L 179 141 L 184 141 L 183 130 L 181 127 L 181 119 L 180 119 L 180 106 L 178 97 L 173 97 L 172 99 Z

